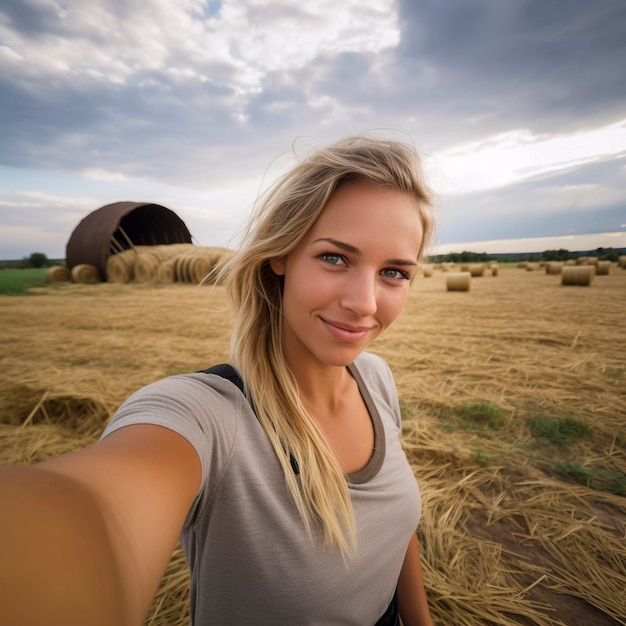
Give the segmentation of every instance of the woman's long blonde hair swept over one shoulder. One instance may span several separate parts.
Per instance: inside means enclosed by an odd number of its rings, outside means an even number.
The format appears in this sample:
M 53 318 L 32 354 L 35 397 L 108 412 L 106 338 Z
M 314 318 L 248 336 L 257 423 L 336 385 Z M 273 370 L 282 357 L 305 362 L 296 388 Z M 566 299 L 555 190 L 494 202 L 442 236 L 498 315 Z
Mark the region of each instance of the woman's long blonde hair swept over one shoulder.
M 406 143 L 358 135 L 310 154 L 260 197 L 241 250 L 224 272 L 235 310 L 231 362 L 245 381 L 309 535 L 313 527 L 321 528 L 326 544 L 338 547 L 344 557 L 355 546 L 346 477 L 302 405 L 285 362 L 283 282 L 272 271 L 270 260 L 289 254 L 336 189 L 353 179 L 366 179 L 417 199 L 424 232 L 421 257 L 433 232 L 433 217 L 417 152 Z

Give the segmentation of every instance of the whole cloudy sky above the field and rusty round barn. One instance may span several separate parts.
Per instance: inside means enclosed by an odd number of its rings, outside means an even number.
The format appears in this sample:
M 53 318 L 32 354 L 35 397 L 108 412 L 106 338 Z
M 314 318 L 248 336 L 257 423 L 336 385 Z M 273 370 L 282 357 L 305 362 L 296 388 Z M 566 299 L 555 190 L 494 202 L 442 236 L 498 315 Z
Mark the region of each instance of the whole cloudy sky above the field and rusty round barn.
M 624 0 L 2 0 L 0 259 L 121 200 L 232 241 L 291 153 L 409 138 L 439 251 L 626 246 Z

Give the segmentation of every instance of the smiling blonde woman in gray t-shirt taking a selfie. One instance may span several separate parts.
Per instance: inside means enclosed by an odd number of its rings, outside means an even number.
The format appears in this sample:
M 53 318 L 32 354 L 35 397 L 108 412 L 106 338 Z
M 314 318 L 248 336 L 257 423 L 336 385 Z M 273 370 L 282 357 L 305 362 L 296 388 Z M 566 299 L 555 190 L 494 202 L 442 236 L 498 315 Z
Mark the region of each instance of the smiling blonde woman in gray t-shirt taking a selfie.
M 196 625 L 432 623 L 393 378 L 364 352 L 431 235 L 418 165 L 348 138 L 263 198 L 225 269 L 245 395 L 171 377 L 95 446 L 4 470 L 7 623 L 141 624 L 179 535 Z

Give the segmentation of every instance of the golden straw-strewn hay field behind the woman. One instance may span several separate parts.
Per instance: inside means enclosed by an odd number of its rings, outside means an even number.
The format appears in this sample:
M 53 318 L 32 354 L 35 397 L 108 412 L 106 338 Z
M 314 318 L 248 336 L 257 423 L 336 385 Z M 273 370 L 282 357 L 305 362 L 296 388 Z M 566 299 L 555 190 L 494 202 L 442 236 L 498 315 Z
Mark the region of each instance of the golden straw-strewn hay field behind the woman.
M 563 287 L 420 276 L 372 350 L 391 365 L 441 625 L 626 624 L 626 271 Z M 225 359 L 222 287 L 63 285 L 0 298 L 0 462 L 99 435 L 139 386 Z M 177 551 L 146 624 L 188 621 Z

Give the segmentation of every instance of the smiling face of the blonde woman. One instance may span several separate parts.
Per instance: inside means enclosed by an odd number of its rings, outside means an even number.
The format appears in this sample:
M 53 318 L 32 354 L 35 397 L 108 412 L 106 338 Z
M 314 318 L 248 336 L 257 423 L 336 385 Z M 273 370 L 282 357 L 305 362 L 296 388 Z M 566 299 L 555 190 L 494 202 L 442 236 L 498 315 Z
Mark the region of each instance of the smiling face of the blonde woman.
M 290 366 L 345 366 L 400 314 L 423 229 L 417 200 L 350 181 L 304 239 L 275 259 L 284 276 L 284 349 Z

